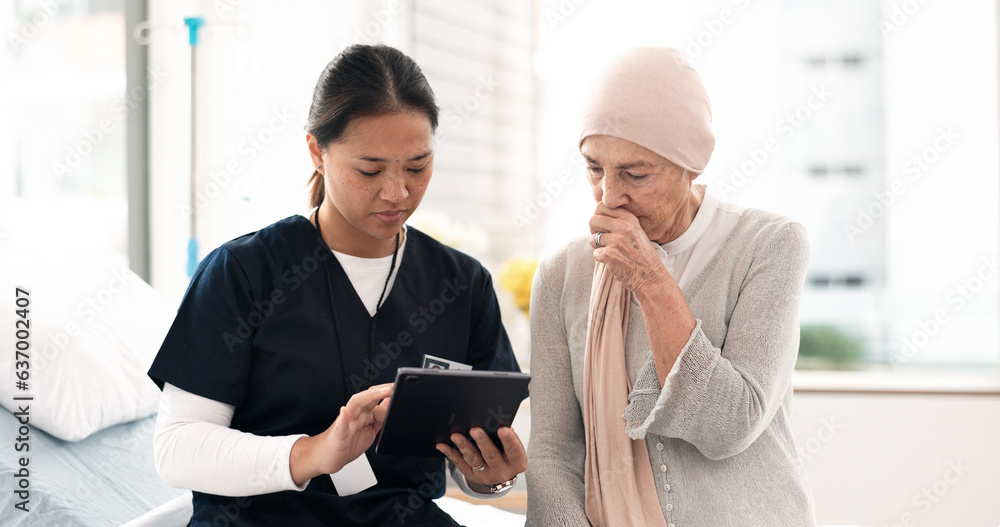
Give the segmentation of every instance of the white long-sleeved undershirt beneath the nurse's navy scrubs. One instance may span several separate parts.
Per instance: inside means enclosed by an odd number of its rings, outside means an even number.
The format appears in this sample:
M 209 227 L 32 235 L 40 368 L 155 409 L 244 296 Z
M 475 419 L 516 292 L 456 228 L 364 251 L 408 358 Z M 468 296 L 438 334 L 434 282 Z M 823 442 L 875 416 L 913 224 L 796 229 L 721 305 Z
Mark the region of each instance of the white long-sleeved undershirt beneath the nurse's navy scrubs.
M 400 246 L 396 270 L 402 260 Z M 374 313 L 375 303 L 385 284 L 389 261 L 385 258 L 343 258 L 348 278 Z M 391 257 L 390 257 L 391 258 Z M 365 267 L 371 269 L 365 269 Z M 381 280 L 373 273 L 381 270 Z M 388 288 L 395 282 L 393 272 Z M 295 485 L 289 456 L 292 445 L 305 434 L 259 436 L 230 428 L 235 407 L 182 390 L 165 383 L 153 432 L 153 459 L 160 477 L 172 487 L 219 496 L 253 496 L 284 490 L 305 490 L 308 481 Z M 452 467 L 452 478 L 469 496 L 498 498 L 507 491 L 481 494 L 471 488 L 465 476 Z

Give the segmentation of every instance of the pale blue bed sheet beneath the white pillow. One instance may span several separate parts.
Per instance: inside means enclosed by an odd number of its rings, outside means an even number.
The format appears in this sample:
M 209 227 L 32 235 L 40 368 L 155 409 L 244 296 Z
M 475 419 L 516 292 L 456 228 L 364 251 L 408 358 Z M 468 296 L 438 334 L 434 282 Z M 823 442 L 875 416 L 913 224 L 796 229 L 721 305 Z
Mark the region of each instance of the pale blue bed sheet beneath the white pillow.
M 31 429 L 29 512 L 15 508 L 19 423 L 0 407 L 0 526 L 117 527 L 185 491 L 166 486 L 153 467 L 154 417 L 70 443 Z

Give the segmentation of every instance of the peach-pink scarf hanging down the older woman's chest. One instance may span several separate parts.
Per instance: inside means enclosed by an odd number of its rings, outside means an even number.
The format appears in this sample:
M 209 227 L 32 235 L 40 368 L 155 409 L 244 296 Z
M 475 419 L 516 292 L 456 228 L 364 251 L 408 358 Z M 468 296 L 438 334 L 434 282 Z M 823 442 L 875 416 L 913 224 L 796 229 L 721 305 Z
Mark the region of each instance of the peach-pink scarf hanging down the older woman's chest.
M 666 527 L 644 439 L 625 433 L 632 390 L 625 371 L 631 293 L 604 264 L 594 269 L 583 366 L 587 518 L 596 527 Z

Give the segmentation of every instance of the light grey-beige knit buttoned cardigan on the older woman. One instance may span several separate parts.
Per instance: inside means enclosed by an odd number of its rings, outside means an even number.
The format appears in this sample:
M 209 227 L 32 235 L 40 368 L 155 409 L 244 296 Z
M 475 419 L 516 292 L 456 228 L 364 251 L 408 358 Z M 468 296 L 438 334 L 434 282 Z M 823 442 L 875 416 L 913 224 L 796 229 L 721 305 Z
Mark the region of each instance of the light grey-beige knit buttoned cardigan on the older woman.
M 539 265 L 531 294 L 527 527 L 589 525 L 584 512 L 583 359 L 594 272 L 589 238 Z M 633 299 L 633 390 L 621 422 L 645 438 L 671 527 L 813 526 L 789 430 L 805 229 L 747 209 L 684 289 L 697 321 L 662 389 Z

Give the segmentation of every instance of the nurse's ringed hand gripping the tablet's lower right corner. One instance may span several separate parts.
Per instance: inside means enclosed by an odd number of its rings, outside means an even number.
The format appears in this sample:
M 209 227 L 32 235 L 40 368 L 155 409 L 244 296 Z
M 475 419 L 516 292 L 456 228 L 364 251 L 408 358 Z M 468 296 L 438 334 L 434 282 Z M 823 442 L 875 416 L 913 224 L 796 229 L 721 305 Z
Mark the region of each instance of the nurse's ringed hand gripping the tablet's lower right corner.
M 504 426 L 497 430 L 497 434 L 503 444 L 502 452 L 493 444 L 490 436 L 478 427 L 469 431 L 475 443 L 462 434 L 452 434 L 451 441 L 458 450 L 445 443 L 438 443 L 437 449 L 448 456 L 473 490 L 486 493 L 485 486 L 507 481 L 528 467 L 528 455 L 514 429 Z M 473 467 L 482 469 L 473 470 Z M 478 488 L 477 484 L 482 488 Z

